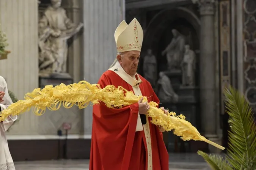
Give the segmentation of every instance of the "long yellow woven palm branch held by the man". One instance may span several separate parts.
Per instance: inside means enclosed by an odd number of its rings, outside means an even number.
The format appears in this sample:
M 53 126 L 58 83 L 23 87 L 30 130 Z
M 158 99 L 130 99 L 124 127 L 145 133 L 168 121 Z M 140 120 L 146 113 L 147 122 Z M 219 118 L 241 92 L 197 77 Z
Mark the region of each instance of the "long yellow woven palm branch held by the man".
M 124 93 L 125 92 L 125 93 Z M 65 108 L 71 108 L 77 105 L 80 109 L 86 108 L 91 104 L 104 103 L 108 108 L 122 108 L 137 103 L 143 96 L 135 96 L 132 91 L 127 91 L 123 87 L 115 88 L 108 85 L 101 88 L 97 84 L 90 84 L 86 81 L 64 85 L 63 83 L 53 87 L 48 85 L 42 90 L 35 89 L 25 95 L 25 100 L 10 105 L 8 109 L 0 113 L 0 121 L 9 115 L 17 115 L 33 108 L 34 113 L 41 116 L 46 108 L 49 110 L 58 110 L 61 105 Z M 143 102 L 147 102 L 147 97 L 143 97 Z M 190 122 L 185 120 L 185 116 L 176 116 L 176 113 L 170 112 L 168 115 L 163 110 L 157 108 L 157 103 L 149 102 L 149 117 L 152 117 L 152 123 L 161 126 L 166 131 L 174 131 L 174 134 L 180 136 L 184 141 L 195 140 L 204 141 L 217 148 L 225 148 L 207 140 L 201 136 L 198 130 Z

